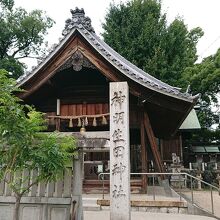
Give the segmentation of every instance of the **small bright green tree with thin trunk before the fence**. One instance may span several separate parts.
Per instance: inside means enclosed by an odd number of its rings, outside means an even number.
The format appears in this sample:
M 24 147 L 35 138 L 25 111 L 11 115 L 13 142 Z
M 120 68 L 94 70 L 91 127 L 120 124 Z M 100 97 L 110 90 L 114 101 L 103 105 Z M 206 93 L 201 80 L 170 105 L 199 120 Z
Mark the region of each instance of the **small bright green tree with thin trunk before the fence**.
M 65 165 L 76 153 L 73 137 L 46 134 L 43 114 L 35 111 L 14 95 L 16 81 L 0 70 L 0 180 L 15 193 L 13 220 L 18 220 L 21 197 L 40 181 L 59 178 Z M 38 170 L 34 182 L 19 173 Z

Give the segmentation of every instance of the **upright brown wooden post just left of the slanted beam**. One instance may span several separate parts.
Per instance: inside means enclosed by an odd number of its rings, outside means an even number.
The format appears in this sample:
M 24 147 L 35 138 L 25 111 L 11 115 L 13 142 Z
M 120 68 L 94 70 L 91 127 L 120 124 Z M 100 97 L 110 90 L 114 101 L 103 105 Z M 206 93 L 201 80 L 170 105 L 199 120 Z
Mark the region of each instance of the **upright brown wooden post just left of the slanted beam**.
M 146 151 L 146 138 L 144 129 L 144 112 L 141 112 L 141 172 L 147 172 L 147 151 Z M 146 193 L 147 191 L 147 176 L 141 175 L 142 179 L 142 190 Z

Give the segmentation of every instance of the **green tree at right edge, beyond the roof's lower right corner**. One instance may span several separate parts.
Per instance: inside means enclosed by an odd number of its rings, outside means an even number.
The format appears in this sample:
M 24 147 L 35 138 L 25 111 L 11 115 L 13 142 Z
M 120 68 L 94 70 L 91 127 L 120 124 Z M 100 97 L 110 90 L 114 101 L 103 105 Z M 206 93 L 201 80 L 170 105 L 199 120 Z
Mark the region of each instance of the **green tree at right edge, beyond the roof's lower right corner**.
M 220 49 L 201 63 L 187 67 L 183 77 L 191 85 L 193 94 L 201 94 L 199 117 L 202 125 L 210 127 L 218 123 L 219 117 L 211 111 L 211 105 L 218 104 L 220 92 Z

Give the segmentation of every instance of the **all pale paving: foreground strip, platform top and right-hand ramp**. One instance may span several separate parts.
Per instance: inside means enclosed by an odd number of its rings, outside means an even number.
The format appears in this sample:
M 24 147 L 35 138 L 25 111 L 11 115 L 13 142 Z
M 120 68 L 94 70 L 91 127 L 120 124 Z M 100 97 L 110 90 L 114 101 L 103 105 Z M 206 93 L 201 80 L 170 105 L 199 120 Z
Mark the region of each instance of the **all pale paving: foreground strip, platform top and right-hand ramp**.
M 180 197 L 175 192 L 165 192 L 160 188 L 156 190 L 156 200 L 161 201 L 179 201 Z M 182 192 L 183 193 L 183 192 Z M 185 196 L 191 198 L 191 192 L 184 192 Z M 84 194 L 84 198 L 102 198 L 102 194 Z M 211 208 L 211 193 L 210 191 L 194 191 L 193 194 L 194 202 L 198 204 L 203 209 L 212 212 Z M 105 199 L 109 199 L 109 195 L 105 195 Z M 148 195 L 144 194 L 131 194 L 132 200 L 153 200 L 152 191 L 148 192 Z M 184 201 L 184 199 L 182 199 Z M 213 191 L 213 205 L 214 205 L 214 214 L 215 216 L 220 218 L 220 195 L 218 192 Z M 85 211 L 84 212 L 84 220 L 108 220 L 109 211 Z M 211 220 L 215 218 L 198 216 L 198 215 L 183 215 L 183 214 L 171 214 L 171 213 L 150 213 L 150 212 L 135 212 L 132 211 L 132 219 L 133 220 L 146 220 L 146 219 L 155 219 L 155 220 Z

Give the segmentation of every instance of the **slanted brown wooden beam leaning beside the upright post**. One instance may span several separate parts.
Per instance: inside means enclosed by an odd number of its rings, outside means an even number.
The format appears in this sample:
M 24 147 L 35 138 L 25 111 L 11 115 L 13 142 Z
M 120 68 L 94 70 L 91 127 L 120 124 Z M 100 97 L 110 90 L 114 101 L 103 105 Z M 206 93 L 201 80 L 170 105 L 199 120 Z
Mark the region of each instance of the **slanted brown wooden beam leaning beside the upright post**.
M 156 138 L 154 136 L 154 132 L 151 127 L 151 123 L 150 123 L 147 112 L 144 112 L 144 120 L 143 121 L 144 121 L 145 130 L 146 130 L 149 142 L 150 142 L 150 147 L 151 147 L 151 150 L 152 150 L 152 153 L 153 153 L 153 156 L 154 156 L 157 168 L 158 168 L 158 172 L 164 173 L 164 167 L 162 164 L 159 150 L 157 148 Z

